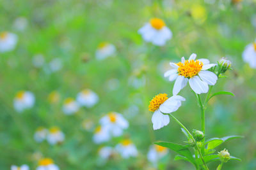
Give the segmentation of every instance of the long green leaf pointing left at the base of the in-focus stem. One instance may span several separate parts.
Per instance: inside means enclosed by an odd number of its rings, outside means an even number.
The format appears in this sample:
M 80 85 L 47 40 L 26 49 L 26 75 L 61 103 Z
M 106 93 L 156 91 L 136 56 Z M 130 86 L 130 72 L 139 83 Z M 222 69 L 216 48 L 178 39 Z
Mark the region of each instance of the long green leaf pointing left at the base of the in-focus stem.
M 155 142 L 154 144 L 170 148 L 174 152 L 177 152 L 180 155 L 186 157 L 192 164 L 196 165 L 195 159 L 189 150 L 189 145 L 179 145 L 177 143 L 171 142 Z

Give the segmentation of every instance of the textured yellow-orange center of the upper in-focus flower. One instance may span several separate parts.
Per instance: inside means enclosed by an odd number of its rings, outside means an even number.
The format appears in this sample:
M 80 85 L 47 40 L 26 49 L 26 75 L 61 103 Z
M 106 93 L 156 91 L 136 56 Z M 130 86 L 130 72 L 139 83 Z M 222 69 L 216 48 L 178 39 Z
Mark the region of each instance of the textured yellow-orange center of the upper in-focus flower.
M 180 76 L 191 78 L 201 71 L 204 64 L 199 60 L 185 60 L 184 63 L 179 62 L 177 65 L 179 66 L 178 72 Z

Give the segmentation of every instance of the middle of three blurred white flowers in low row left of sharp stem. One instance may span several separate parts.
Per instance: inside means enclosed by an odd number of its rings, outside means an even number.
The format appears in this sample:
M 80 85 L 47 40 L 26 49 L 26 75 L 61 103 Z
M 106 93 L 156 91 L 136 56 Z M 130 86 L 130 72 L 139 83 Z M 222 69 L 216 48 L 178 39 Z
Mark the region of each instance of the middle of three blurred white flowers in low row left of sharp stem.
M 124 139 L 121 143 L 118 143 L 116 150 L 124 159 L 138 155 L 138 150 L 130 139 Z

